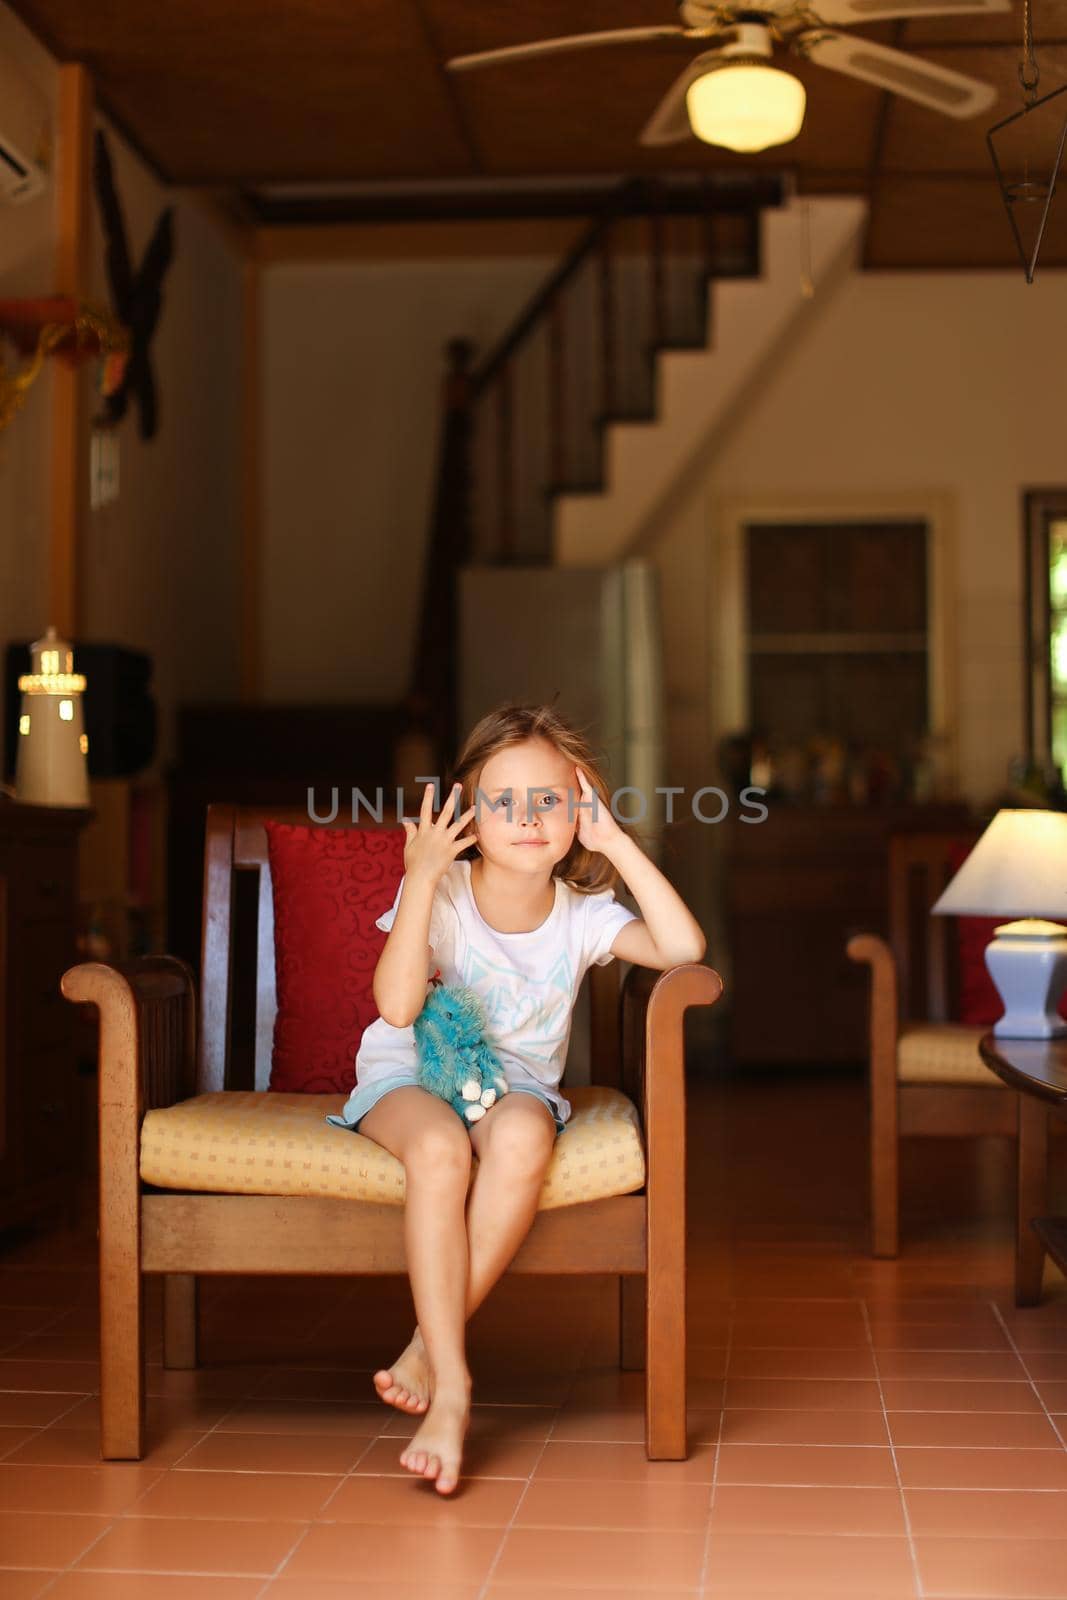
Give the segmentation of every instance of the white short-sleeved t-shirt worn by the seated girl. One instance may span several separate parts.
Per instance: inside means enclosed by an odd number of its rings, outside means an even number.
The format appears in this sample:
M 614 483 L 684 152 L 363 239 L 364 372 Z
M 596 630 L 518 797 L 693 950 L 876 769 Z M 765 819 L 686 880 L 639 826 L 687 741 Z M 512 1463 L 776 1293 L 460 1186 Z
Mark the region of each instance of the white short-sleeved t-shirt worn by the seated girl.
M 571 1013 L 585 971 L 613 960 L 619 928 L 637 922 L 613 890 L 582 894 L 555 878 L 555 904 L 545 922 L 528 933 L 499 933 L 478 910 L 470 888 L 470 862 L 459 858 L 437 885 L 430 910 L 427 982 L 440 970 L 446 984 L 475 990 L 486 1016 L 488 1040 L 509 1085 L 544 1090 L 566 1122 L 569 1101 L 558 1093 L 571 1037 Z M 394 925 L 397 898 L 378 918 L 386 933 Z M 413 1027 L 394 1027 L 376 1018 L 355 1056 L 357 1090 L 398 1072 L 416 1070 Z

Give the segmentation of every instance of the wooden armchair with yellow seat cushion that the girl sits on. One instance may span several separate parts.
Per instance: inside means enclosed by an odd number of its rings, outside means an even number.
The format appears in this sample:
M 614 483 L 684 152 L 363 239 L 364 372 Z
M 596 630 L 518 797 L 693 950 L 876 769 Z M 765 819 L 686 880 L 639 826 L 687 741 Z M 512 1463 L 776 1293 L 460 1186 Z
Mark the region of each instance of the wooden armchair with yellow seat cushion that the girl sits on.
M 197 1365 L 197 1277 L 200 1274 L 403 1274 L 403 1166 L 362 1134 L 330 1128 L 325 1110 L 344 1096 L 274 1096 L 267 1093 L 274 1037 L 274 901 L 267 859 L 267 818 L 307 822 L 298 811 L 208 808 L 200 1006 L 189 966 L 173 957 L 146 957 L 117 968 L 99 962 L 72 966 L 62 978 L 69 1000 L 99 1010 L 99 1277 L 101 1277 L 101 1456 L 144 1454 L 144 1312 L 142 1275 L 163 1282 L 163 1360 Z M 387 818 L 381 826 L 390 826 Z M 373 824 L 371 824 L 373 826 Z M 254 1090 L 235 1090 L 240 1058 L 230 1037 L 235 974 L 253 960 L 235 949 L 237 886 L 251 888 L 256 912 Z M 568 1090 L 577 1128 L 590 1099 L 629 1120 L 638 1144 L 643 1186 L 579 1203 L 542 1210 L 523 1242 L 512 1272 L 617 1274 L 619 1360 L 646 1371 L 646 1450 L 649 1459 L 686 1456 L 685 1363 L 685 1053 L 683 1018 L 691 1005 L 713 1005 L 721 979 L 689 963 L 667 973 L 633 966 L 619 984 L 617 963 L 593 966 L 590 981 L 592 1086 Z M 200 1026 L 197 1027 L 197 1014 Z M 246 1042 L 248 1043 L 248 1042 Z M 250 1051 L 250 1054 L 251 1054 Z M 205 1099 L 206 1098 L 206 1099 Z M 302 1173 L 286 1190 L 250 1182 L 243 1192 L 243 1157 L 219 1157 L 232 1136 L 219 1136 L 218 1117 L 234 1102 L 256 1112 L 302 1106 L 293 1138 L 301 1160 L 277 1160 Z M 269 1107 L 274 1102 L 274 1107 Z M 629 1104 L 627 1104 L 629 1102 Z M 142 1125 L 166 1130 L 170 1118 L 206 1118 L 203 1182 L 163 1187 L 141 1178 Z M 262 1123 L 262 1117 L 256 1117 Z M 590 1118 L 587 1117 L 587 1122 Z M 214 1133 L 211 1125 L 214 1122 Z M 638 1130 L 633 1134 L 633 1130 Z M 563 1146 L 549 1168 L 545 1190 Z M 322 1146 L 322 1141 L 330 1141 Z M 342 1141 L 342 1144 L 338 1144 Z M 358 1147 L 394 1163 L 386 1200 L 338 1198 L 309 1192 L 307 1152 Z M 240 1154 L 240 1152 L 238 1152 Z M 197 1152 L 194 1152 L 194 1157 Z M 310 1158 L 309 1158 L 310 1160 Z M 360 1162 L 352 1155 L 354 1163 Z M 381 1165 L 379 1162 L 379 1165 Z M 362 1162 L 366 1166 L 366 1160 Z M 638 1170 L 638 1182 L 640 1182 Z M 229 1192 L 221 1192 L 229 1184 Z M 237 1187 L 237 1192 L 234 1189 Z M 270 1192 L 264 1192 L 267 1189 Z M 296 1189 L 296 1192 L 293 1192 Z M 400 1195 L 400 1200 L 397 1200 Z

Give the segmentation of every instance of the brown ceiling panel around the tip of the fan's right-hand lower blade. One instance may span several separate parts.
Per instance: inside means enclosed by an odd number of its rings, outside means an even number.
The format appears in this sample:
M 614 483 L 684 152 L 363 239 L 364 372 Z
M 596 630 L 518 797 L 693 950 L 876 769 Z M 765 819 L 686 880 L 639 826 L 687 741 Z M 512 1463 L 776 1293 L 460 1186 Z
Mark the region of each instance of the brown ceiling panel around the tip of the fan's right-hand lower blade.
M 1008 50 L 933 50 L 915 51 L 925 61 L 933 61 L 968 77 L 993 83 L 998 90 L 997 104 L 981 117 L 960 122 L 926 110 L 913 101 L 894 94 L 891 98 L 881 170 L 885 173 L 985 173 L 990 168 L 985 133 L 993 123 L 1022 107 L 1022 90 L 1016 72 L 1016 58 Z M 1041 56 L 1048 72 L 1043 72 L 1041 88 L 1048 75 L 1048 88 L 1067 82 L 1067 46 L 1046 50 Z M 1067 96 L 1065 96 L 1067 101 Z M 1067 117 L 1067 104 L 1059 123 Z

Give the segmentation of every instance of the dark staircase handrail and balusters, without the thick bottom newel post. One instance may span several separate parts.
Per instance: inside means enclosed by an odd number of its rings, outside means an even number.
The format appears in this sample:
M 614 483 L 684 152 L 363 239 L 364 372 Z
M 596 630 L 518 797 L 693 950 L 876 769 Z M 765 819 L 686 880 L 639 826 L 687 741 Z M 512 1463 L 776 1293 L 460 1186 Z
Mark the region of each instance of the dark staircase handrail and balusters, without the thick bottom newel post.
M 707 349 L 710 286 L 758 278 L 777 203 L 777 181 L 621 187 L 470 374 L 469 560 L 555 560 L 557 502 L 600 496 L 611 432 L 657 419 L 661 360 Z

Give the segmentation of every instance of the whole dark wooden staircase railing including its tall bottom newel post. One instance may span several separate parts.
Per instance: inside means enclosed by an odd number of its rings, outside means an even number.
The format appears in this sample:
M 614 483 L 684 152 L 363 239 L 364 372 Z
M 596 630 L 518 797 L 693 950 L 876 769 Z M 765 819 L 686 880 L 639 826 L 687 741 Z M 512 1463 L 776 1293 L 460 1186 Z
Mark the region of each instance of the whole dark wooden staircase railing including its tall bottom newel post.
M 557 563 L 557 506 L 614 488 L 619 429 L 657 432 L 662 363 L 707 355 L 717 293 L 758 282 L 761 216 L 781 203 L 776 176 L 630 179 L 496 350 L 472 366 L 450 346 L 408 696 L 438 749 L 458 733 L 459 568 Z

